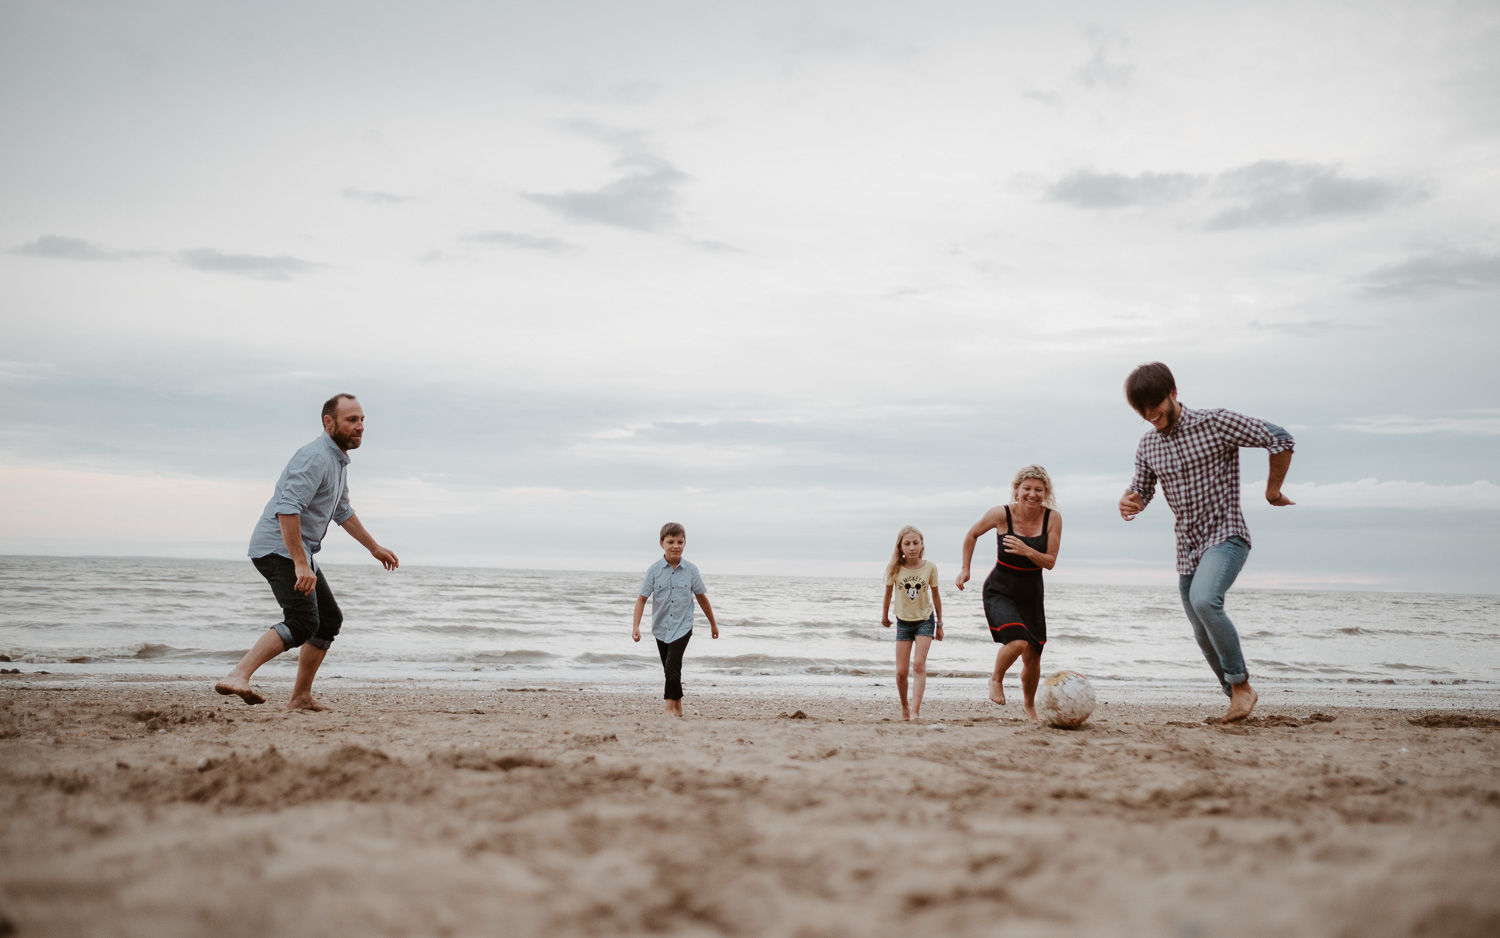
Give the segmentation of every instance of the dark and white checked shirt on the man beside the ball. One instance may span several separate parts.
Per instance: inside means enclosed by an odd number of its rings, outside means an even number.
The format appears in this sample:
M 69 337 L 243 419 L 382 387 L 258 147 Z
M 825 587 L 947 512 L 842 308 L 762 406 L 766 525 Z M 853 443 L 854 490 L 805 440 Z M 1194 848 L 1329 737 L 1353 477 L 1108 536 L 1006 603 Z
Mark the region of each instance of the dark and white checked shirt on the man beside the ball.
M 1136 447 L 1136 477 L 1130 491 L 1150 504 L 1156 480 L 1176 515 L 1178 573 L 1198 569 L 1203 551 L 1230 537 L 1250 543 L 1250 525 L 1239 510 L 1239 447 L 1272 453 L 1293 447 L 1292 434 L 1232 410 L 1184 407 L 1172 432 L 1146 431 Z

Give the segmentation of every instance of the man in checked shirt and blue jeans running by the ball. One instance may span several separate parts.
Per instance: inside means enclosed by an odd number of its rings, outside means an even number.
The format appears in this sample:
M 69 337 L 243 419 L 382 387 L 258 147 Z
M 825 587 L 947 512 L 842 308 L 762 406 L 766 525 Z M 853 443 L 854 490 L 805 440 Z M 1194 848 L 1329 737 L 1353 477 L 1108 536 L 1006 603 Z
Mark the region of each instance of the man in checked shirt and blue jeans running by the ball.
M 1150 501 L 1156 482 L 1176 515 L 1178 590 L 1192 635 L 1228 695 L 1232 723 L 1250 716 L 1258 699 L 1239 650 L 1239 632 L 1224 614 L 1224 594 L 1250 555 L 1250 527 L 1239 510 L 1239 447 L 1270 453 L 1266 501 L 1288 506 L 1281 482 L 1292 465 L 1292 434 L 1275 423 L 1232 410 L 1192 410 L 1178 404 L 1178 383 L 1161 362 L 1142 365 L 1125 380 L 1125 398 L 1150 422 L 1136 447 L 1136 477 L 1120 497 L 1120 518 L 1131 521 Z

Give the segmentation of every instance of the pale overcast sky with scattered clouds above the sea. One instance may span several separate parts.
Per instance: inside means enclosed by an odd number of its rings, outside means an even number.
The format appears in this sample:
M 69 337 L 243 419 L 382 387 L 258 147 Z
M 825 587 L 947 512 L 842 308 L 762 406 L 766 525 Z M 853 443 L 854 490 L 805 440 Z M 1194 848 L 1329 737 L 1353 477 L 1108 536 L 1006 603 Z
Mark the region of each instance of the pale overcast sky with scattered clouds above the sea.
M 1052 576 L 1167 362 L 1242 584 L 1500 591 L 1494 3 L 0 5 L 0 552 L 243 557 L 334 392 L 405 564 Z M 976 569 L 993 561 L 993 540 Z M 333 531 L 328 561 L 369 563 Z

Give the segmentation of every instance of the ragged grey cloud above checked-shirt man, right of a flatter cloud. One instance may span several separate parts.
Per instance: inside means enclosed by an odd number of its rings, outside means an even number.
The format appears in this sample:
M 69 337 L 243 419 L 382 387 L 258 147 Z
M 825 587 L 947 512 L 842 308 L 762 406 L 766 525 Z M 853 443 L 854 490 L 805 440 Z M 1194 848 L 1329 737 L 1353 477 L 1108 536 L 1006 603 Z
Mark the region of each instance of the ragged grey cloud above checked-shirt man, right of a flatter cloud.
M 1212 231 L 1364 215 L 1406 195 L 1406 189 L 1394 183 L 1340 176 L 1338 167 L 1281 161 L 1260 161 L 1221 173 L 1215 189 L 1245 201 L 1212 216 L 1204 225 Z

